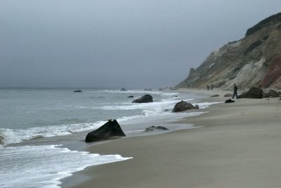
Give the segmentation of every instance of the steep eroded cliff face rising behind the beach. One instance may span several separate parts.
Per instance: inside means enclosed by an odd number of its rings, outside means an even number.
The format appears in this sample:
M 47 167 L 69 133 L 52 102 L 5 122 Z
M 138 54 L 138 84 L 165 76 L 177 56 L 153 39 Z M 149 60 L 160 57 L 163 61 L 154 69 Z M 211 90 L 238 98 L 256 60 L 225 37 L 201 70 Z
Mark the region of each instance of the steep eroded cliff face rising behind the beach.
M 281 13 L 247 30 L 243 39 L 213 51 L 176 87 L 281 87 Z

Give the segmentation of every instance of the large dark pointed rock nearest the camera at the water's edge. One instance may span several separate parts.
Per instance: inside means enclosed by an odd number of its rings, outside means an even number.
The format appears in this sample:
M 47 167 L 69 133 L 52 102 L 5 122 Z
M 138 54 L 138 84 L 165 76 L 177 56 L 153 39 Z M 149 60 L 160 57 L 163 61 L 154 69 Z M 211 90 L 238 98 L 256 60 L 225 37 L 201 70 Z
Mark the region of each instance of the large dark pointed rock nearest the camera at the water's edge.
M 105 125 L 99 127 L 97 130 L 89 132 L 85 142 L 98 142 L 111 139 L 112 137 L 126 137 L 117 120 L 108 120 Z

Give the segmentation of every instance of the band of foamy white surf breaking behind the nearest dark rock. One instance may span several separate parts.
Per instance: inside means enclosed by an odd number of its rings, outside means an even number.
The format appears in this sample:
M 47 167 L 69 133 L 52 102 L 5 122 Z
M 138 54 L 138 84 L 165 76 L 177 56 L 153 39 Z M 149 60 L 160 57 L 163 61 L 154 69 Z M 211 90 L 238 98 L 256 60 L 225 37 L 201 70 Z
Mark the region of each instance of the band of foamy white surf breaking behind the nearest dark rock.
M 188 101 L 188 100 L 186 100 Z M 155 102 L 151 104 L 136 104 L 130 108 L 141 109 L 141 114 L 123 116 L 116 118 L 119 123 L 129 124 L 129 123 L 148 123 L 155 122 L 156 120 L 171 120 L 183 118 L 185 116 L 199 115 L 200 112 L 187 112 L 181 114 L 171 113 L 171 106 L 174 106 L 174 101 L 164 101 Z M 200 108 L 207 108 L 211 104 L 216 103 L 196 103 Z M 194 104 L 195 105 L 195 104 Z M 120 110 L 129 109 L 124 108 L 124 106 L 119 106 L 117 108 L 110 108 L 107 110 Z M 168 111 L 165 111 L 168 110 Z M 8 144 L 20 143 L 23 141 L 31 139 L 39 139 L 44 137 L 57 137 L 70 135 L 75 132 L 83 132 L 86 130 L 95 130 L 101 125 L 106 123 L 106 120 L 100 120 L 96 123 L 77 123 L 70 125 L 53 125 L 48 127 L 31 127 L 26 130 L 12 130 L 12 129 L 0 129 L 0 146 L 6 146 Z

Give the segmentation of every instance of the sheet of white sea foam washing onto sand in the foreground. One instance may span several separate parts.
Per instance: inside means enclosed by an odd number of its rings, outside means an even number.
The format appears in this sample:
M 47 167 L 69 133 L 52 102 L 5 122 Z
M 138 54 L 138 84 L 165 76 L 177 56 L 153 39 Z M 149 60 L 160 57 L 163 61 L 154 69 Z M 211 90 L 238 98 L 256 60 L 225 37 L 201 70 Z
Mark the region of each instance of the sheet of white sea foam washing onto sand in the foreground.
M 87 166 L 127 159 L 70 151 L 58 145 L 6 147 L 0 149 L 0 187 L 59 187 L 61 179 Z

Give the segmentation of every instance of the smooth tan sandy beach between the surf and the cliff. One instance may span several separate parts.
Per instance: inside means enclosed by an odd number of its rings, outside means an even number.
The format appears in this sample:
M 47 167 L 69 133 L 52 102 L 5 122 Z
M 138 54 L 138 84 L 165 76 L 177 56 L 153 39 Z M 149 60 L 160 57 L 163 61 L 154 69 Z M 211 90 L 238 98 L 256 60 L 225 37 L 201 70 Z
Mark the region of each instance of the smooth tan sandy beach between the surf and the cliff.
M 204 99 L 211 102 L 231 93 L 188 92 L 220 95 Z M 214 104 L 177 122 L 197 128 L 89 146 L 91 153 L 133 158 L 86 168 L 62 187 L 281 187 L 279 99 Z

